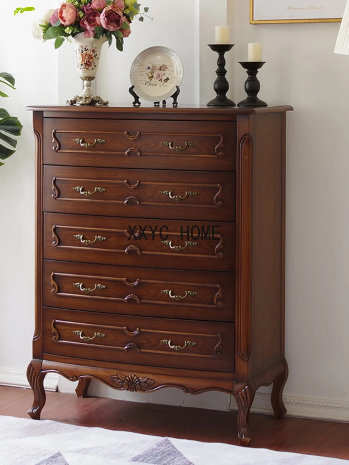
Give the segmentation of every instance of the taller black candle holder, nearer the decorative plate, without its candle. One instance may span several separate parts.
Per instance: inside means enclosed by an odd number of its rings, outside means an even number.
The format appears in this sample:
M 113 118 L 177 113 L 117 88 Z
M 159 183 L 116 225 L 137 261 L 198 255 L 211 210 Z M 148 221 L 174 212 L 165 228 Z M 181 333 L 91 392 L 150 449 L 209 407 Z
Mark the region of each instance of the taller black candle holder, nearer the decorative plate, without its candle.
M 217 96 L 215 99 L 210 100 L 208 102 L 208 106 L 235 106 L 233 100 L 227 98 L 226 93 L 229 90 L 229 83 L 226 79 L 225 75 L 227 74 L 227 70 L 225 69 L 226 61 L 224 58 L 224 53 L 229 52 L 234 45 L 231 44 L 213 44 L 208 45 L 211 50 L 218 53 L 218 60 L 217 65 L 218 69 L 216 70 L 217 79 L 215 80 L 215 84 L 213 88 L 215 89 L 215 93 Z

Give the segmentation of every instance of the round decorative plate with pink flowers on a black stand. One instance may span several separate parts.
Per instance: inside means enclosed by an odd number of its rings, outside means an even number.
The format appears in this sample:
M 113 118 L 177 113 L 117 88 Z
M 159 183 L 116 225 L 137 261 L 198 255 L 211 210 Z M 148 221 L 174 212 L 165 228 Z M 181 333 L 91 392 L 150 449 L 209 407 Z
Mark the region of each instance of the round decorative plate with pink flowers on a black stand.
M 134 92 L 148 102 L 171 97 L 183 80 L 183 63 L 168 47 L 146 48 L 134 60 L 130 72 Z

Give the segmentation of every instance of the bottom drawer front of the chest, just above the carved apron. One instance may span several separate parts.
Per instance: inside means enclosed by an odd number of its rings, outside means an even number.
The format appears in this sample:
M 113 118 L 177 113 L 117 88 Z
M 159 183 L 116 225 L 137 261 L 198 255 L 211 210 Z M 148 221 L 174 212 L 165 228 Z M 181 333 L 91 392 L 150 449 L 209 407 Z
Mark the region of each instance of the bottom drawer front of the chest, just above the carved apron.
M 234 371 L 234 323 L 44 308 L 44 352 L 137 365 Z

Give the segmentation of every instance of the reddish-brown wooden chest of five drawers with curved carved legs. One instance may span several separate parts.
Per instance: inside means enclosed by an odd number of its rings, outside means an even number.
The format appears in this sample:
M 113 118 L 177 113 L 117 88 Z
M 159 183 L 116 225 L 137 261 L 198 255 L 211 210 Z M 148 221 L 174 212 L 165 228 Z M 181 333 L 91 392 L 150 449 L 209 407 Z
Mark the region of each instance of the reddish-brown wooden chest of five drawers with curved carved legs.
M 286 412 L 289 106 L 33 107 L 36 328 L 27 376 L 222 391 L 248 445 L 255 391 Z

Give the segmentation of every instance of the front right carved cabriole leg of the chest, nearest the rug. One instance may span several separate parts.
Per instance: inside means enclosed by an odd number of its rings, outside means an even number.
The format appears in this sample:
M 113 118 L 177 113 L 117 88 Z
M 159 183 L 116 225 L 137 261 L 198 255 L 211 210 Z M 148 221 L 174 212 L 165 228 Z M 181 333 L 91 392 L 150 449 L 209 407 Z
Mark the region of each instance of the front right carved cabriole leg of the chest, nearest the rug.
M 251 432 L 249 429 L 249 411 L 255 398 L 255 387 L 248 382 L 234 382 L 234 398 L 236 400 L 238 415 L 237 429 L 241 445 L 249 445 Z

